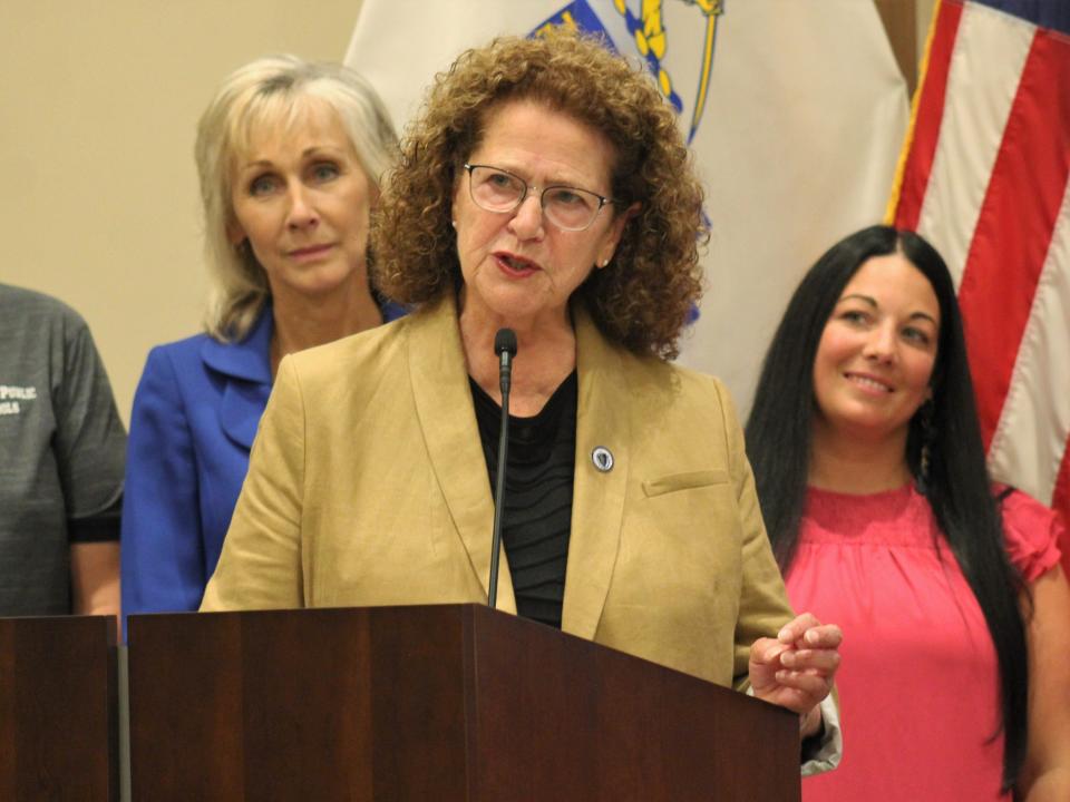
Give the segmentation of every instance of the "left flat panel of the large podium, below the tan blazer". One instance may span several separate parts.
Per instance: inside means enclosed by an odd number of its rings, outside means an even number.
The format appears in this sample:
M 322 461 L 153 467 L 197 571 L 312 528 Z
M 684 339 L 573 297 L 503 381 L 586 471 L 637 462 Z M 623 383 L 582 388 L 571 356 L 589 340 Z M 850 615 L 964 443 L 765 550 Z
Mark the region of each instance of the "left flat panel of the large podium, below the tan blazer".
M 464 799 L 460 620 L 393 609 L 132 616 L 134 798 Z

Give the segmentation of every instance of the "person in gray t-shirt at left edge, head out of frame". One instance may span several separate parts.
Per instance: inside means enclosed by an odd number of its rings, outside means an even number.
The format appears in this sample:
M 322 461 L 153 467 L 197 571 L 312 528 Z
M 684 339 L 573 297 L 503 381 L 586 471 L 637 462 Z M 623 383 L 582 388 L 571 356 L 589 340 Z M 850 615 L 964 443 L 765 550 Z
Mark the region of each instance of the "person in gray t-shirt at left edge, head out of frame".
M 118 613 L 125 453 L 85 321 L 0 284 L 0 615 Z

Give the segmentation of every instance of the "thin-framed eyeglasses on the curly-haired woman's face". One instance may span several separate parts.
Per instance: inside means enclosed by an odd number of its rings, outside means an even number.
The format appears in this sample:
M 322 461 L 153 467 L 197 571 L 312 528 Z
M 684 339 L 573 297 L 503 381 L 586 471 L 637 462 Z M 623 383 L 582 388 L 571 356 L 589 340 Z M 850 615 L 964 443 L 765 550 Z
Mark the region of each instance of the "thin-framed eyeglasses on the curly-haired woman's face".
M 518 175 L 489 165 L 466 164 L 468 194 L 479 208 L 505 214 L 519 208 L 528 192 L 538 192 Z M 546 219 L 562 231 L 585 231 L 599 212 L 613 199 L 597 193 L 570 186 L 548 186 L 543 189 L 539 205 Z

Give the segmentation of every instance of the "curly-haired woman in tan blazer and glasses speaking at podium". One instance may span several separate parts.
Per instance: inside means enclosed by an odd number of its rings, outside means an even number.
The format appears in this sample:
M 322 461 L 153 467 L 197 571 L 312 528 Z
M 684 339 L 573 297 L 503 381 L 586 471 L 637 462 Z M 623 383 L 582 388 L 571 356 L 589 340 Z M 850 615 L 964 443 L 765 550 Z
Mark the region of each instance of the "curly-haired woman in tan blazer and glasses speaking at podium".
M 668 362 L 702 192 L 639 68 L 567 33 L 440 75 L 373 213 L 416 312 L 282 361 L 203 610 L 485 602 L 784 705 L 838 754 L 838 627 L 794 617 L 731 401 Z M 813 742 L 811 742 L 813 743 Z

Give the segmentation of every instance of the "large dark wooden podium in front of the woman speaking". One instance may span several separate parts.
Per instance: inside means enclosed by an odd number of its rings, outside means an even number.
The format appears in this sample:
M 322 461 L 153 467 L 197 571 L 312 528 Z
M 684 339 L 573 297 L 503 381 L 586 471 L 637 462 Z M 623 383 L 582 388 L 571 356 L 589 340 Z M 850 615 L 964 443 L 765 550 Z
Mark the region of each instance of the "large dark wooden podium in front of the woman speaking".
M 135 800 L 799 799 L 798 718 L 477 605 L 132 616 Z

